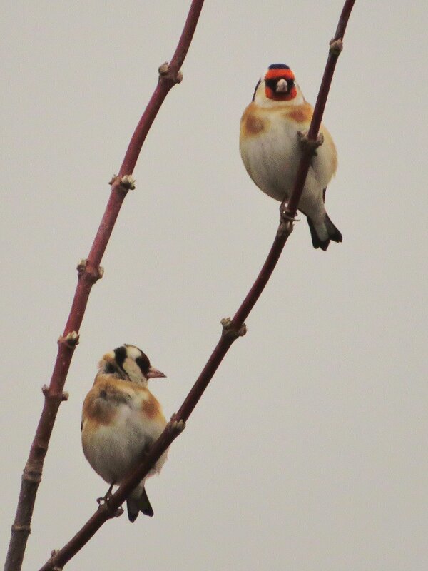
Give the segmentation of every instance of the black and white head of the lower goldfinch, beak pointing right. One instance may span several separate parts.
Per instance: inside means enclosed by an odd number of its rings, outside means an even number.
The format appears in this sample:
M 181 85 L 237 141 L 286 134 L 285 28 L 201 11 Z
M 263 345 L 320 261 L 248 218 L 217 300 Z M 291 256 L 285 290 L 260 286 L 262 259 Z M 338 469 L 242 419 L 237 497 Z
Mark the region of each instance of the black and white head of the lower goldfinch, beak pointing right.
M 106 353 L 98 363 L 98 368 L 98 375 L 114 375 L 118 379 L 144 386 L 148 379 L 166 376 L 152 367 L 146 353 L 135 345 L 127 344 Z

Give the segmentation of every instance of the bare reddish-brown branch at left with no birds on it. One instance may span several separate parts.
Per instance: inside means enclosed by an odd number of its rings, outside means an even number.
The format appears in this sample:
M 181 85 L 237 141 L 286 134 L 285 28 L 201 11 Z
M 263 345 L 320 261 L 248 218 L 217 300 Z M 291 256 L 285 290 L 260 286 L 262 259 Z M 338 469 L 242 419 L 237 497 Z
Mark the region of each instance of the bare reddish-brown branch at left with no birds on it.
M 88 259 L 78 266 L 76 292 L 66 327 L 58 342 L 58 353 L 51 376 L 51 382 L 49 388 L 44 391 L 44 408 L 36 429 L 36 435 L 31 445 L 29 459 L 24 468 L 4 571 L 21 570 L 26 542 L 31 530 L 31 517 L 33 515 L 34 503 L 36 502 L 37 488 L 41 480 L 44 458 L 48 450 L 56 414 L 58 413 L 61 400 L 63 400 L 63 387 L 66 382 L 66 376 L 74 349 L 78 343 L 77 333 L 81 327 L 92 286 L 102 276 L 102 269 L 99 265 L 106 251 L 106 246 L 116 223 L 116 218 L 121 209 L 123 199 L 130 188 L 128 181 L 124 180 L 123 176 L 133 173 L 141 147 L 156 118 L 159 108 L 161 108 L 168 91 L 170 91 L 176 83 L 181 81 L 180 68 L 183 65 L 190 42 L 193 39 L 202 6 L 203 0 L 192 1 L 173 59 L 171 59 L 169 65 L 163 64 L 159 69 L 159 80 L 156 89 L 133 133 L 119 174 L 111 181 L 111 194 L 108 198 L 106 210 L 93 241 Z

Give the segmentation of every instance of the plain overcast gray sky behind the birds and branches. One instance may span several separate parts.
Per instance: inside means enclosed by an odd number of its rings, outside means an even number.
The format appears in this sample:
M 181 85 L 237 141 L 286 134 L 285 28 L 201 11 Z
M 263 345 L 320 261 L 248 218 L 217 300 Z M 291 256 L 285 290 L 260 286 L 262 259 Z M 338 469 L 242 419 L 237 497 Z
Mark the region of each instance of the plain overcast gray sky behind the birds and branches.
M 0 558 L 108 180 L 170 58 L 189 1 L 15 1 L 0 27 Z M 342 0 L 205 1 L 184 80 L 138 161 L 81 329 L 24 570 L 96 509 L 81 403 L 98 359 L 133 343 L 180 406 L 275 236 L 278 203 L 238 151 L 271 63 L 314 103 Z M 357 0 L 325 124 L 339 153 L 327 210 L 305 221 L 160 477 L 155 517 L 107 522 L 69 571 L 422 571 L 428 560 L 427 6 Z

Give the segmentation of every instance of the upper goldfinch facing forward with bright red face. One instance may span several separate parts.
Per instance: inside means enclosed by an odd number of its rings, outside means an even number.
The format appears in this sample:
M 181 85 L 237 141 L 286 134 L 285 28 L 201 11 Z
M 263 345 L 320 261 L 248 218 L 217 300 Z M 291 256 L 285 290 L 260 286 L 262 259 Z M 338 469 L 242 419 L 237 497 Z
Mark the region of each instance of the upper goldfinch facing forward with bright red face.
M 310 126 L 313 108 L 285 64 L 272 64 L 255 87 L 253 101 L 240 122 L 240 154 L 255 184 L 277 201 L 290 198 L 302 151 L 302 131 Z M 314 248 L 327 250 L 330 240 L 342 241 L 325 211 L 325 190 L 337 167 L 330 133 L 321 125 L 324 143 L 312 157 L 300 198 Z

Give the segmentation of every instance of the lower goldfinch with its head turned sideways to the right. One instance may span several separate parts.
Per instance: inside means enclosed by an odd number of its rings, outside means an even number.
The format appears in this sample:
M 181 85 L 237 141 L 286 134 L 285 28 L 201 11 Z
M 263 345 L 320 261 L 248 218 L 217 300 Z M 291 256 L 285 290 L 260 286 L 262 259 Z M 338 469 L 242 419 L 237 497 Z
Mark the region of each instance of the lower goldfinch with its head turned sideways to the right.
M 147 388 L 148 379 L 156 377 L 165 375 L 153 368 L 148 357 L 134 345 L 122 345 L 106 353 L 98 363 L 93 387 L 83 402 L 82 446 L 93 470 L 111 485 L 106 497 L 166 426 L 161 405 Z M 161 470 L 166 455 L 163 453 L 148 476 Z M 138 512 L 153 515 L 144 480 L 133 490 L 126 505 L 131 522 Z

